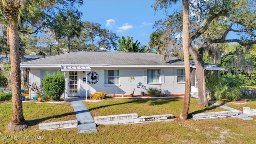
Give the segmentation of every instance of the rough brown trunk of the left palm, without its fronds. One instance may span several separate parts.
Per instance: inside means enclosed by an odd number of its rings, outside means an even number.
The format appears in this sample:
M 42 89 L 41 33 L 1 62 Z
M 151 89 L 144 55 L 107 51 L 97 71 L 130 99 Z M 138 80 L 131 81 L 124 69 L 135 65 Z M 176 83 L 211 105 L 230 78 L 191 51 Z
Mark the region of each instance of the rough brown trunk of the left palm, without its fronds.
M 20 82 L 20 52 L 18 42 L 18 22 L 8 24 L 11 72 L 12 72 L 12 119 L 8 130 L 19 131 L 27 127 L 22 112 L 21 82 Z

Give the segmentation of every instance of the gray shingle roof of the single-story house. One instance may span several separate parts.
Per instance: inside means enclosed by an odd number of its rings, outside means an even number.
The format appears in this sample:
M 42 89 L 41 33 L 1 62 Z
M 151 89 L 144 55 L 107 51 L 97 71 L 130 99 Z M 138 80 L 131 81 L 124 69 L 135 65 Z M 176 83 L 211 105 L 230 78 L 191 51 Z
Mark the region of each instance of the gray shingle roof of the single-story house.
M 170 57 L 168 62 L 164 62 L 161 55 L 153 53 L 79 51 L 21 64 L 184 65 L 184 60 Z

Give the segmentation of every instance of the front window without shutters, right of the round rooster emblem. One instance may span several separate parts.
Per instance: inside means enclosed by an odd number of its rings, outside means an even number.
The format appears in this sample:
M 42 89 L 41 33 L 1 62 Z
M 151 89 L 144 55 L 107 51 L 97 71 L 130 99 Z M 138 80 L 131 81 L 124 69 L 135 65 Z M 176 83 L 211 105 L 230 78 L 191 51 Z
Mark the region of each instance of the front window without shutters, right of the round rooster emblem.
M 119 70 L 105 70 L 104 84 L 119 84 Z

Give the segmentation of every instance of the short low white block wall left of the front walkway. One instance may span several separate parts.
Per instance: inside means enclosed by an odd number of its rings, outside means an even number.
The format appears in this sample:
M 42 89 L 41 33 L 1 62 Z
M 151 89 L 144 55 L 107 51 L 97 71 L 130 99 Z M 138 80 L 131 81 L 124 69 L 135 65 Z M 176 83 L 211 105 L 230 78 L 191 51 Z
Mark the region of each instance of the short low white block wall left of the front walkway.
M 63 128 L 76 128 L 78 125 L 77 120 L 68 120 L 62 122 L 49 122 L 39 124 L 40 130 L 55 130 L 55 129 L 63 129 Z

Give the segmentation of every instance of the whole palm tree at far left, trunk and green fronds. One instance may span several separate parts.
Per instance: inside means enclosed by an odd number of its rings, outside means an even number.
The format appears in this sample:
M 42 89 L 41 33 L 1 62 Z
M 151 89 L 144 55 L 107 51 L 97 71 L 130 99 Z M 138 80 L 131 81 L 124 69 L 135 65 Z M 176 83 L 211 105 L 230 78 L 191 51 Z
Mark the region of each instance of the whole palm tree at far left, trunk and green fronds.
M 22 112 L 20 53 L 18 32 L 24 22 L 37 22 L 42 16 L 41 8 L 54 4 L 54 0 L 2 0 L 0 17 L 8 30 L 12 72 L 12 118 L 8 130 L 19 131 L 27 127 Z

